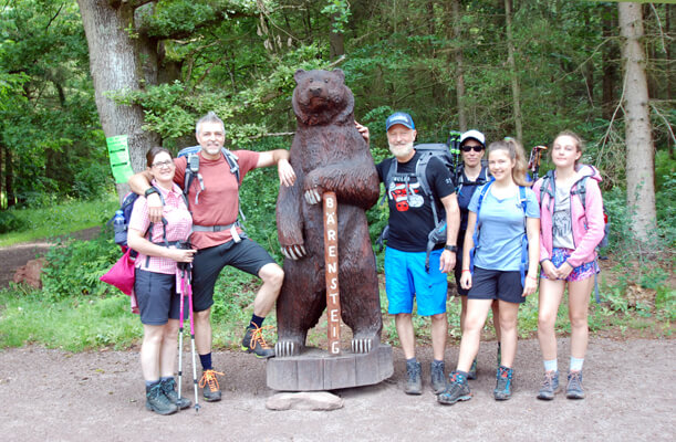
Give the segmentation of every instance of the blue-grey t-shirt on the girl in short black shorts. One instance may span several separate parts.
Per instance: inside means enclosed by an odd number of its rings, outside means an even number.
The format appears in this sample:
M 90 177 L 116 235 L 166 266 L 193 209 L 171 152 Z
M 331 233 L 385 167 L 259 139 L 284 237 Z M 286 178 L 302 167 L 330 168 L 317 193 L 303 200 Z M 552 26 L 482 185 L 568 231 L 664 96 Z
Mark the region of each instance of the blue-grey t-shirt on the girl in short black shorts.
M 487 186 L 487 185 L 486 185 Z M 477 212 L 478 188 L 469 202 L 469 210 Z M 526 215 L 540 218 L 540 207 L 535 193 L 526 188 Z M 523 209 L 519 191 L 502 200 L 493 197 L 488 189 L 479 211 L 479 241 L 475 250 L 475 265 L 487 270 L 518 272 L 521 263 L 521 239 L 526 235 Z

